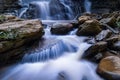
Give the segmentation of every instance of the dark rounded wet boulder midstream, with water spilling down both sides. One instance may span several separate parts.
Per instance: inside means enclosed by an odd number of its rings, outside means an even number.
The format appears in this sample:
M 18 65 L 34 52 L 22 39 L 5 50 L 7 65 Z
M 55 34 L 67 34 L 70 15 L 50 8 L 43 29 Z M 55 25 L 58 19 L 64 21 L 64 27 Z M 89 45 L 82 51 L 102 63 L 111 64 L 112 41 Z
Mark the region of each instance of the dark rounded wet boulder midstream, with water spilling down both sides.
M 68 34 L 73 29 L 71 23 L 54 23 L 51 27 L 51 33 L 57 35 Z

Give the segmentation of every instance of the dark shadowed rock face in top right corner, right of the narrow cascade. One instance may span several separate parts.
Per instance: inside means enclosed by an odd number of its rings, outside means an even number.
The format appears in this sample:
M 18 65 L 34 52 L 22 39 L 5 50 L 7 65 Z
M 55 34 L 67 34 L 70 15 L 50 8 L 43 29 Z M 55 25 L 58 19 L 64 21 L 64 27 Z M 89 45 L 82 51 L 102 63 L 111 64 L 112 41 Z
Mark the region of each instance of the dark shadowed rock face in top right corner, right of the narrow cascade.
M 120 0 L 91 0 L 92 13 L 108 13 L 119 10 Z

